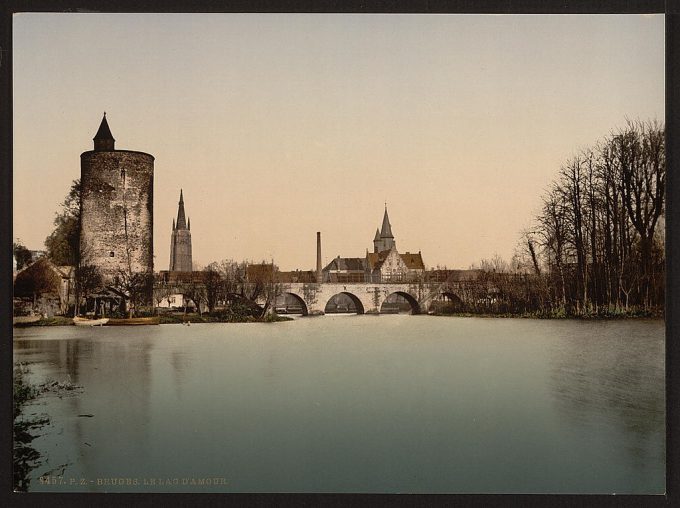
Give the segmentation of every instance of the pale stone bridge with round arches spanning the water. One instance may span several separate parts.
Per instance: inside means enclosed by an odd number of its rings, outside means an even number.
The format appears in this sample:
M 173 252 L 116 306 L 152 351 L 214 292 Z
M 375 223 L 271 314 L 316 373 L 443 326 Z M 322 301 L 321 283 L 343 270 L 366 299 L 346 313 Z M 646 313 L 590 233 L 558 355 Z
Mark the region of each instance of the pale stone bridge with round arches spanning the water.
M 460 283 L 288 283 L 281 284 L 281 294 L 292 296 L 302 308 L 302 314 L 319 314 L 335 295 L 352 300 L 358 314 L 378 313 L 390 295 L 399 295 L 411 305 L 412 314 L 427 312 L 433 300 L 446 297 L 461 302 L 454 293 Z

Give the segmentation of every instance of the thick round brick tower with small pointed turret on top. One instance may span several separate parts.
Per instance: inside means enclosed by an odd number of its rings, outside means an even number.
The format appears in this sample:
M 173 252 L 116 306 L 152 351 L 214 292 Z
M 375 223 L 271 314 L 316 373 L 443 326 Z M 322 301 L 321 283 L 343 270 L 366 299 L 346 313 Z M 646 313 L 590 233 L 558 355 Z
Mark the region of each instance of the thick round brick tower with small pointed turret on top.
M 105 284 L 153 274 L 154 158 L 114 143 L 104 113 L 94 150 L 80 155 L 80 262 Z

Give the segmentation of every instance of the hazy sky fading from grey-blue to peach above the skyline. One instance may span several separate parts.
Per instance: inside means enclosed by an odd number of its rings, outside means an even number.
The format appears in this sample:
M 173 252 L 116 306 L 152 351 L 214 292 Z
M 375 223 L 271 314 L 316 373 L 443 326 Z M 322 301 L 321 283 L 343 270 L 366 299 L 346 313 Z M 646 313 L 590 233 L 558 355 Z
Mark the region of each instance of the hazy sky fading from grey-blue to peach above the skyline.
M 180 189 L 197 265 L 372 250 L 512 257 L 562 163 L 664 120 L 663 15 L 20 13 L 14 232 L 43 249 L 103 112 L 155 157 L 154 269 Z

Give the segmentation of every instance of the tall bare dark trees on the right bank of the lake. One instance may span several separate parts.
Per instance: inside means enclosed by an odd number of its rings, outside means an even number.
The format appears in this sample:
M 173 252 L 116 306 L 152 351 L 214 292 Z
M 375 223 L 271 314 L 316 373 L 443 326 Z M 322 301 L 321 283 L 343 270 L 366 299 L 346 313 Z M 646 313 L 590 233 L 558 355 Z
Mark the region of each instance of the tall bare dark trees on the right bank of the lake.
M 560 167 L 510 263 L 481 263 L 499 312 L 663 310 L 665 130 L 626 126 Z M 489 305 L 487 305 L 487 308 Z

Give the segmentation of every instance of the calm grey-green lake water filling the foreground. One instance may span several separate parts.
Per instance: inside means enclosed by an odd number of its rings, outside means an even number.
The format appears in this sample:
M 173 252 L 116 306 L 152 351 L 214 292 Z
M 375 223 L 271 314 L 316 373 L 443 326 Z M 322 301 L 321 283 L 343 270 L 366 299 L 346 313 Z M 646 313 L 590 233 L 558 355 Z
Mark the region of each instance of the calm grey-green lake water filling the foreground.
M 25 328 L 14 360 L 83 386 L 25 410 L 32 491 L 665 491 L 660 320 Z

